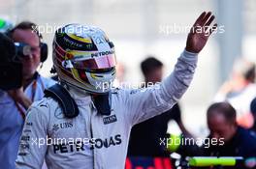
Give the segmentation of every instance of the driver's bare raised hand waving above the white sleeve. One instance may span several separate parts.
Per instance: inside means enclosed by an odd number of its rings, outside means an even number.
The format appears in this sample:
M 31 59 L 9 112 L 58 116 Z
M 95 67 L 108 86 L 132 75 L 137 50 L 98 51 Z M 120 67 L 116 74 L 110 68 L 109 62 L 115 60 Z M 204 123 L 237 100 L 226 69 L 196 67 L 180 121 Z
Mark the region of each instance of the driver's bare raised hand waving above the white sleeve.
M 186 51 L 199 53 L 204 48 L 208 42 L 208 37 L 217 29 L 216 23 L 209 26 L 214 18 L 215 16 L 210 12 L 204 12 L 197 18 L 187 36 Z

